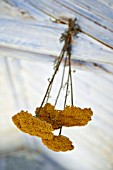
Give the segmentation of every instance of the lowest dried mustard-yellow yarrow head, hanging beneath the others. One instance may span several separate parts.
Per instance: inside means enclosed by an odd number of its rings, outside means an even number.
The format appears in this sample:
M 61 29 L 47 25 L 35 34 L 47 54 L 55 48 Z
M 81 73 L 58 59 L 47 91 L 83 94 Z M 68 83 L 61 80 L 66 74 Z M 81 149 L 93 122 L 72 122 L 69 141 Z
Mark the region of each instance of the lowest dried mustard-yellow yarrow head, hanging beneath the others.
M 66 136 L 54 136 L 53 139 L 42 139 L 44 145 L 46 145 L 49 149 L 55 152 L 66 152 L 69 150 L 73 150 L 74 146 L 72 142 Z

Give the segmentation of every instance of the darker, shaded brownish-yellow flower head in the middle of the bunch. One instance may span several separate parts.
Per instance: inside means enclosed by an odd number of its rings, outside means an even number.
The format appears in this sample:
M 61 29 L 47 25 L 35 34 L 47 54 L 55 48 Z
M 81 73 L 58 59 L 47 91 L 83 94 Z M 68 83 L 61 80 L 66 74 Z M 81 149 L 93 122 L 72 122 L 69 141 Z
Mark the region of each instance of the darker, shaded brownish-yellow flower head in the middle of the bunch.
M 38 115 L 39 108 L 36 108 L 36 115 Z M 59 125 L 56 121 L 57 117 L 59 116 L 59 111 L 54 109 L 50 103 L 45 104 L 44 107 L 41 108 L 38 118 L 42 121 L 46 121 L 47 123 L 52 125 L 52 128 L 59 129 L 61 125 Z

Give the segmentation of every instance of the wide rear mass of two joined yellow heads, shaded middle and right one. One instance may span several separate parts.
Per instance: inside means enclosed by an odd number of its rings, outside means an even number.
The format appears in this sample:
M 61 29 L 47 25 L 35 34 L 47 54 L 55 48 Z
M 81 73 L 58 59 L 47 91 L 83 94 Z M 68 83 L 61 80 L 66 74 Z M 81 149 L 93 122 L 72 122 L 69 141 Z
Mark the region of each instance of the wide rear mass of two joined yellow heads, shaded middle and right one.
M 38 113 L 36 108 L 35 113 Z M 64 110 L 55 110 L 54 106 L 47 103 L 40 111 L 38 118 L 46 121 L 52 125 L 53 129 L 59 129 L 62 126 L 84 126 L 93 115 L 92 110 L 89 108 L 81 109 L 74 106 L 66 106 Z

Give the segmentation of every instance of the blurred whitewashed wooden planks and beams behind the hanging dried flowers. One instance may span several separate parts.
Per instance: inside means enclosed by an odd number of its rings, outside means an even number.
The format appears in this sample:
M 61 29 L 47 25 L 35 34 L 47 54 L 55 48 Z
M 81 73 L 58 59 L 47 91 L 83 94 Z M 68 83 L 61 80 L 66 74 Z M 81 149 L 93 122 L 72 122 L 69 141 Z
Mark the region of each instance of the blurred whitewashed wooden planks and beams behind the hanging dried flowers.
M 0 170 L 113 169 L 112 9 L 110 0 L 0 1 Z M 11 119 L 21 110 L 34 115 L 40 106 L 70 17 L 77 17 L 82 29 L 73 42 L 74 104 L 91 107 L 94 115 L 87 126 L 63 127 L 75 149 L 57 153 L 19 131 Z M 53 22 L 56 18 L 62 22 Z M 51 103 L 61 73 L 62 65 Z M 59 107 L 62 101 L 61 96 Z

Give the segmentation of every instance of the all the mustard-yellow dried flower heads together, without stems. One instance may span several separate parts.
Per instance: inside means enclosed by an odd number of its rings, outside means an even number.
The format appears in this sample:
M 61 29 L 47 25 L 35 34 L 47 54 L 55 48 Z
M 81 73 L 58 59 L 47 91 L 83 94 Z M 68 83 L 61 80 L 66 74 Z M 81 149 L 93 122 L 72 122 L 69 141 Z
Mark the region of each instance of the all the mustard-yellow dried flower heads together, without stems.
M 56 110 L 50 103 L 45 104 L 39 114 L 38 111 L 39 108 L 36 108 L 35 113 L 38 118 L 21 111 L 14 115 L 12 120 L 21 131 L 42 138 L 44 145 L 56 152 L 69 151 L 74 149 L 74 146 L 69 138 L 62 135 L 55 136 L 52 131 L 62 126 L 84 126 L 93 115 L 90 108 L 66 106 L 64 110 Z

